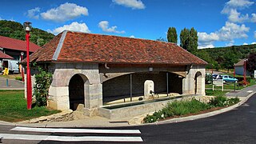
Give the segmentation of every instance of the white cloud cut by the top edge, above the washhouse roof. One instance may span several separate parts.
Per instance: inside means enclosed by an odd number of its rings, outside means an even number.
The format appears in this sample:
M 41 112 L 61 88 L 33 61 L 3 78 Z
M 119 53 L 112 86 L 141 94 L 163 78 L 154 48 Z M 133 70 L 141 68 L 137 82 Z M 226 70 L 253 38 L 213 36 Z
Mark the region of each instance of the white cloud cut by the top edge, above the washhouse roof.
M 112 0 L 112 2 L 134 9 L 145 9 L 146 6 L 140 0 Z

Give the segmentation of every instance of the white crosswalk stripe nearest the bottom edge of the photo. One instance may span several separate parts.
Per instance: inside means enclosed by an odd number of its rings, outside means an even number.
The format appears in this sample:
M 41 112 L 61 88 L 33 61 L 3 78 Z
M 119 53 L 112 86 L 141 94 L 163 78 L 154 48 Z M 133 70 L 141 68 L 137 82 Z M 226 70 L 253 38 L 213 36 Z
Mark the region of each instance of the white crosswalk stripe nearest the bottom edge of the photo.
M 106 137 L 106 136 L 49 136 L 49 135 L 29 135 L 29 134 L 0 134 L 2 139 L 35 140 L 35 141 L 61 141 L 61 142 L 143 142 L 141 137 Z

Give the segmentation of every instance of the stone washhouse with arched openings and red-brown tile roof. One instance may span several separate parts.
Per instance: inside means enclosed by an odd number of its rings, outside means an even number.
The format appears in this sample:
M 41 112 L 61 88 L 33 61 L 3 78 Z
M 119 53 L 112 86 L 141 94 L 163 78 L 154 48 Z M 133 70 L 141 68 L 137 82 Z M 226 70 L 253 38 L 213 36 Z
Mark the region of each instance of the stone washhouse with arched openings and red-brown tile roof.
M 30 62 L 53 74 L 51 108 L 82 104 L 88 116 L 105 102 L 144 95 L 147 80 L 158 94 L 205 95 L 207 62 L 170 42 L 65 30 L 31 54 Z

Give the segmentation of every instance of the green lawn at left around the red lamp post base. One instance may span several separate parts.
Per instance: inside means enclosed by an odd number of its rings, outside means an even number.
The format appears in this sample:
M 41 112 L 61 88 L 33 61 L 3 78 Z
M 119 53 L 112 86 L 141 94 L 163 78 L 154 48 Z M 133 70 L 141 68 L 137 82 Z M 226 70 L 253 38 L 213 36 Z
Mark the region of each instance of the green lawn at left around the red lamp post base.
M 6 122 L 18 122 L 60 112 L 38 106 L 27 110 L 24 90 L 0 90 L 0 103 L 0 120 Z

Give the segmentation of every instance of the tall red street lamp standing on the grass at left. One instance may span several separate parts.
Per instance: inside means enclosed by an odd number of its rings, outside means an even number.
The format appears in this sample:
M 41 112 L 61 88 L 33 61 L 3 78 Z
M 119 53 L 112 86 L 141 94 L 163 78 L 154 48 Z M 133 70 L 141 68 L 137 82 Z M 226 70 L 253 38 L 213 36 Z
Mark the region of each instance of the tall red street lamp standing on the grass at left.
M 32 29 L 31 22 L 24 22 L 23 27 L 26 31 L 26 103 L 27 110 L 31 110 L 32 106 L 32 86 L 30 74 L 30 30 Z

